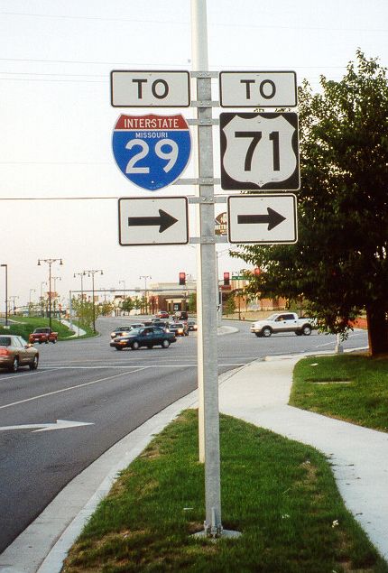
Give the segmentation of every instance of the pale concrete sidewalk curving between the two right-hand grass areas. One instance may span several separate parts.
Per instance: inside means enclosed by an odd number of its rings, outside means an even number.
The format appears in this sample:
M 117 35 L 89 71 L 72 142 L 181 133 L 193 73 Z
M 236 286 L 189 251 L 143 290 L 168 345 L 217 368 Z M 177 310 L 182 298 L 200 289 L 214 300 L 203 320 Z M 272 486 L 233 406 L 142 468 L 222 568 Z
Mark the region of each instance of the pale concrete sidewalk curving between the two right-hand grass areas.
M 388 434 L 288 406 L 298 360 L 243 366 L 221 384 L 219 409 L 326 454 L 346 507 L 388 559 Z

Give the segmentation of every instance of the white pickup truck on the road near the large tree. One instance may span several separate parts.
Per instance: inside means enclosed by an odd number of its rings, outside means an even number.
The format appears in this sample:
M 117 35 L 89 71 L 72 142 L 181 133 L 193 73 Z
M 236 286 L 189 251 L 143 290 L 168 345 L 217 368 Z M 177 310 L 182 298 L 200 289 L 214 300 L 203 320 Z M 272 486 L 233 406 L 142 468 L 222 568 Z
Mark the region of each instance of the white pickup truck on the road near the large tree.
M 295 312 L 276 312 L 268 319 L 253 322 L 251 332 L 256 337 L 271 337 L 276 332 L 295 332 L 299 337 L 308 337 L 313 328 L 316 328 L 313 319 L 300 319 Z

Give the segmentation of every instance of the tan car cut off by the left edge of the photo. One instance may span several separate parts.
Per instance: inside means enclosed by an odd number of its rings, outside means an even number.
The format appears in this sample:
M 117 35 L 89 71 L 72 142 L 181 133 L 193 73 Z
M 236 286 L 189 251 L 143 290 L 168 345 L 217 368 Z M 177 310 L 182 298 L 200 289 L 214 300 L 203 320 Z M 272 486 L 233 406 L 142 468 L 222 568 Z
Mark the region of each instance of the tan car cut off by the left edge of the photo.
M 23 337 L 15 335 L 0 336 L 0 368 L 17 372 L 19 366 L 29 366 L 36 370 L 39 363 L 39 352 L 27 343 Z

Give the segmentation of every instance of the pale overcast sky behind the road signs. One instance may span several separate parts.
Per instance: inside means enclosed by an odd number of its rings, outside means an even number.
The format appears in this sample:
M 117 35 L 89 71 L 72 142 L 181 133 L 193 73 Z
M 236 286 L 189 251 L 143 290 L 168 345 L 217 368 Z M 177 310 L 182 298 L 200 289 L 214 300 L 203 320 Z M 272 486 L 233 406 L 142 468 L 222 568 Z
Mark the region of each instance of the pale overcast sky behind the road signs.
M 341 79 L 358 47 L 387 66 L 387 32 L 386 0 L 208 0 L 210 69 L 293 69 L 298 83 L 307 78 L 314 89 L 320 74 Z M 189 0 L 0 0 L 0 48 L 0 263 L 8 264 L 16 305 L 45 288 L 49 267 L 37 266 L 38 258 L 63 259 L 52 265 L 62 297 L 80 287 L 73 273 L 88 269 L 103 269 L 96 288 L 106 289 L 143 287 L 142 275 L 150 283 L 178 281 L 180 271 L 195 276 L 193 247 L 118 243 L 118 198 L 195 189 L 151 192 L 125 178 L 111 140 L 118 116 L 129 112 L 111 107 L 109 94 L 112 69 L 190 69 Z M 193 116 L 189 108 L 159 112 Z M 217 138 L 215 128 L 219 176 Z M 194 175 L 193 164 L 185 177 Z M 226 245 L 217 249 L 220 277 L 245 267 Z M 3 277 L 1 269 L 0 310 Z

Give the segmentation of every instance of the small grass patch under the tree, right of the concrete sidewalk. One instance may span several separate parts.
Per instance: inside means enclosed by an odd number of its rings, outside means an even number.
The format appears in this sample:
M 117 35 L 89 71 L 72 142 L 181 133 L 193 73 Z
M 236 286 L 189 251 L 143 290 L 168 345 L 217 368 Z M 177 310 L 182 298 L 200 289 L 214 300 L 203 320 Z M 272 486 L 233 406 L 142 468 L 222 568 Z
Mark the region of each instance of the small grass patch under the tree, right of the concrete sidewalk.
M 388 431 L 388 358 L 354 354 L 303 358 L 294 368 L 289 403 Z

